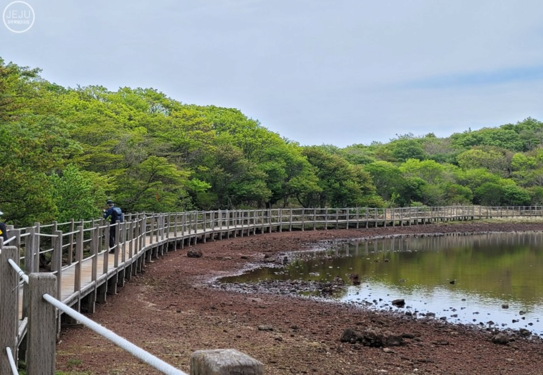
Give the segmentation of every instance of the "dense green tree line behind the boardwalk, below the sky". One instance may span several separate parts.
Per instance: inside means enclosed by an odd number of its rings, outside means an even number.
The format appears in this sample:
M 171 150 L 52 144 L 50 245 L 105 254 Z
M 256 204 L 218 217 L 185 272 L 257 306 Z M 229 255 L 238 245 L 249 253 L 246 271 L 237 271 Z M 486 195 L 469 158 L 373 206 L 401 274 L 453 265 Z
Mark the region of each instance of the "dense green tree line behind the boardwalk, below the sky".
M 0 155 L 0 209 L 17 226 L 96 218 L 108 198 L 127 212 L 543 203 L 533 118 L 304 146 L 237 109 L 153 88 L 66 88 L 1 58 Z

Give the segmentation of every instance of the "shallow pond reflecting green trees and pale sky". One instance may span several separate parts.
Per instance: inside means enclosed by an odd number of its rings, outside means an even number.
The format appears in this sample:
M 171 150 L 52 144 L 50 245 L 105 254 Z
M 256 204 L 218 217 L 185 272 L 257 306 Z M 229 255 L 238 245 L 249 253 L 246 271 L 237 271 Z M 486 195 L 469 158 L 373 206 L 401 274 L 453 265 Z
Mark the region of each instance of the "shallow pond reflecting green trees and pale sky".
M 374 309 L 543 333 L 541 232 L 326 242 L 284 268 L 221 279 L 274 280 L 319 282 L 325 287 L 304 294 Z M 392 303 L 402 299 L 403 306 Z

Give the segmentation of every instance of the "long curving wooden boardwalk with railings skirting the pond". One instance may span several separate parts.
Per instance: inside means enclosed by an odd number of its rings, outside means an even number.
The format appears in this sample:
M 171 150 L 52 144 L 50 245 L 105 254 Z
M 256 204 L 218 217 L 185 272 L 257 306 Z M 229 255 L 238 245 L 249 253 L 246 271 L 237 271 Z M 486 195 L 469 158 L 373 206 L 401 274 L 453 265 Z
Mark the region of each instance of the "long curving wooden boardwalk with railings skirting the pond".
M 70 221 L 27 228 L 8 227 L 8 244 L 24 274 L 48 272 L 55 276 L 58 300 L 77 312 L 93 313 L 97 302 L 117 293 L 125 281 L 141 271 L 151 258 L 183 249 L 197 241 L 250 236 L 271 231 L 404 226 L 450 220 L 503 217 L 542 217 L 543 207 L 408 207 L 408 208 L 274 208 L 235 211 L 125 214 L 125 221 L 110 225 L 104 220 Z M 116 245 L 109 248 L 109 233 Z M 113 250 L 113 253 L 109 251 Z M 1 268 L 5 272 L 6 268 Z M 2 275 L 0 275 L 2 276 Z M 3 280 L 3 279 L 2 279 Z M 0 284 L 0 344 L 10 347 L 14 358 L 28 356 L 28 285 Z M 13 303 L 14 293 L 18 299 Z M 8 318 L 9 317 L 9 318 Z M 13 319 L 16 317 L 16 319 Z M 7 319 L 12 320 L 10 322 Z M 56 314 L 56 332 L 67 314 Z M 16 320 L 16 321 L 15 321 Z M 14 329 L 15 327 L 15 329 Z M 11 334 L 16 332 L 16 334 Z M 20 348 L 18 350 L 18 348 Z M 0 354 L 0 373 L 9 373 Z M 8 369 L 8 370 L 6 370 Z M 31 374 L 29 374 L 31 375 Z

